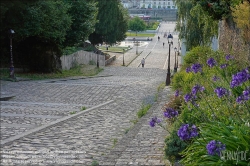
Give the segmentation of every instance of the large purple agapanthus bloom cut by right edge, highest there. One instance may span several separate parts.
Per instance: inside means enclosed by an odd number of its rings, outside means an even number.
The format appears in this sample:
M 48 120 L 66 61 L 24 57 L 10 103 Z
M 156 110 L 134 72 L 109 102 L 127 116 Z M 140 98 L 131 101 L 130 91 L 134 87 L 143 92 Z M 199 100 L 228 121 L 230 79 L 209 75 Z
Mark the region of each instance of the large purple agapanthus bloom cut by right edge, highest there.
M 230 83 L 231 88 L 242 85 L 244 82 L 250 80 L 249 67 L 233 75 Z

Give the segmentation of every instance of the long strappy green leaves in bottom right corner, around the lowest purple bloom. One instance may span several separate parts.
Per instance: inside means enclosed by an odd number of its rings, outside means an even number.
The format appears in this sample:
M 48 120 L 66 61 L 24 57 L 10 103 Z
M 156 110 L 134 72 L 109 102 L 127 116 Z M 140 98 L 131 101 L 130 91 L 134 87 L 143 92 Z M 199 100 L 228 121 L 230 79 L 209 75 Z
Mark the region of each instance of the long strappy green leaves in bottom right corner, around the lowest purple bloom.
M 184 165 L 248 165 L 250 154 L 250 129 L 246 124 L 238 124 L 232 120 L 226 123 L 212 122 L 201 124 L 202 138 L 194 141 L 185 151 L 181 163 Z M 211 140 L 219 140 L 226 145 L 222 155 L 208 155 L 206 145 Z M 238 152 L 246 152 L 244 159 Z M 234 158 L 228 156 L 233 153 Z M 235 153 L 237 157 L 235 157 Z

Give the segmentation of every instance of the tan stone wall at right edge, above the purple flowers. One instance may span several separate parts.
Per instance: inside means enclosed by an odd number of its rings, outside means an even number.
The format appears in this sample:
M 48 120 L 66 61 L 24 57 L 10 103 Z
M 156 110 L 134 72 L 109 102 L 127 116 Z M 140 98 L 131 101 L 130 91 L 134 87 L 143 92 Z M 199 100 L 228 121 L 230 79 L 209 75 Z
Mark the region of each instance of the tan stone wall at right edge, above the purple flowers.
M 250 62 L 250 46 L 243 41 L 232 19 L 219 22 L 219 49 L 234 55 L 238 60 Z

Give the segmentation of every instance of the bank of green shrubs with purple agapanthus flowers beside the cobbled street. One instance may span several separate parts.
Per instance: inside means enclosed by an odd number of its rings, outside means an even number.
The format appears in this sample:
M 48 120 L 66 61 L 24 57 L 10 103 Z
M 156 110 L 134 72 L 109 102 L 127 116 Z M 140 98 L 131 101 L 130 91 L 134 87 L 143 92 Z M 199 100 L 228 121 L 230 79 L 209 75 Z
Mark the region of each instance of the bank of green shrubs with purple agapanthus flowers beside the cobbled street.
M 243 156 L 246 160 L 237 154 L 250 148 L 249 64 L 205 47 L 190 51 L 185 64 L 190 68 L 174 75 L 172 82 L 179 97 L 165 105 L 181 109 L 177 117 L 166 111 L 173 129 L 165 140 L 165 154 L 169 159 L 181 154 L 184 165 L 247 165 L 249 154 Z M 150 121 L 155 124 L 162 126 L 157 117 Z M 227 152 L 236 157 L 225 159 Z

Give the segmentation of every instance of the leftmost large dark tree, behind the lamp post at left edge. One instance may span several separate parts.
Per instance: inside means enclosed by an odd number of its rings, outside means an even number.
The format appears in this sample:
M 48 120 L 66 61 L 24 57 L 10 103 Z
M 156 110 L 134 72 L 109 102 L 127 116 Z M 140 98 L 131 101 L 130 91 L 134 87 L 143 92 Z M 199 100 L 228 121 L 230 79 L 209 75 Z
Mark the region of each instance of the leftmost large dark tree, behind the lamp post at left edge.
M 14 29 L 14 61 L 40 71 L 53 71 L 55 59 L 72 23 L 68 14 L 69 5 L 62 1 L 1 1 L 1 54 L 8 59 L 4 51 L 8 41 L 7 31 Z M 1 35 L 1 36 L 2 36 Z M 18 58 L 21 57 L 21 58 Z M 41 59 L 39 61 L 39 59 Z M 18 63 L 15 63 L 18 64 Z

